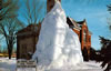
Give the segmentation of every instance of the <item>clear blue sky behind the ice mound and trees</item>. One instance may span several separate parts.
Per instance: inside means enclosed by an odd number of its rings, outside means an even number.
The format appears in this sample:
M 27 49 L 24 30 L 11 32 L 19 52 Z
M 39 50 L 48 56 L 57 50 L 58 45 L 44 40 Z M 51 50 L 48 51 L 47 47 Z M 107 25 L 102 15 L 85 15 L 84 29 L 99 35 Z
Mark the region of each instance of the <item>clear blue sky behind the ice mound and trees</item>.
M 47 0 L 44 2 L 44 10 L 47 10 Z M 99 36 L 111 38 L 111 32 L 108 29 L 108 18 L 111 14 L 107 11 L 107 4 L 111 3 L 111 0 L 61 0 L 62 8 L 65 14 L 74 19 L 75 21 L 87 20 L 89 30 L 92 32 L 91 43 L 95 49 L 100 49 Z M 20 0 L 19 6 L 19 19 L 26 22 L 22 17 L 24 13 L 23 0 Z M 21 14 L 22 13 L 22 14 Z M 4 44 L 4 42 L 2 42 Z

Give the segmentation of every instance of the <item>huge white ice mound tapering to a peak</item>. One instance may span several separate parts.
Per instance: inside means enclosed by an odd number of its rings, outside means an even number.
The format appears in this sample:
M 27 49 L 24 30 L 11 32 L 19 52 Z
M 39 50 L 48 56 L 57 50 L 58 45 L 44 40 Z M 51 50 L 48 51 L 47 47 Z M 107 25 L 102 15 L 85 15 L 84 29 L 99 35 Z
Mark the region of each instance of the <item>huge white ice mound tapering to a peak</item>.
M 79 38 L 69 28 L 60 2 L 54 4 L 42 22 L 32 59 L 37 58 L 38 65 L 44 70 L 70 68 L 83 61 Z

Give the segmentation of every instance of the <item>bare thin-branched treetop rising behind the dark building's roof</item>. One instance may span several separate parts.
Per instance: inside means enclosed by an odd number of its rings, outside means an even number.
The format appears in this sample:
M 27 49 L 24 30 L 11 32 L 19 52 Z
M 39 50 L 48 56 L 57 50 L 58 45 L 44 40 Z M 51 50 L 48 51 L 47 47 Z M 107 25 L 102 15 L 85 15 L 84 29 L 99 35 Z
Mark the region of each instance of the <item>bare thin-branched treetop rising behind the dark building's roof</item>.
M 43 11 L 43 1 L 41 0 L 27 0 L 26 2 L 26 13 L 23 17 L 26 18 L 28 24 L 37 23 L 41 20 Z

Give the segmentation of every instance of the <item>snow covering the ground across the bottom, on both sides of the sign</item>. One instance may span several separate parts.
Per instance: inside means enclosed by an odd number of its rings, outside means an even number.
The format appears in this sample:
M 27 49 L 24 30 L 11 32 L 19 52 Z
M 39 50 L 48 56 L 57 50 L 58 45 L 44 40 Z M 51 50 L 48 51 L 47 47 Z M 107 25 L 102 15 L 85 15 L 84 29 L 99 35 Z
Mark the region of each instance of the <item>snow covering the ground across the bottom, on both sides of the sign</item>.
M 89 62 L 82 62 L 81 64 L 78 64 L 78 67 L 70 67 L 70 69 L 50 69 L 48 71 L 103 71 L 103 69 L 101 69 L 100 63 L 97 63 L 95 61 L 89 61 Z M 17 65 L 17 60 L 16 59 L 11 59 L 9 60 L 8 58 L 0 58 L 0 71 L 16 71 L 16 65 Z M 38 65 L 37 65 L 38 68 Z M 40 68 L 39 68 L 40 69 Z M 41 71 L 40 70 L 37 71 Z M 34 71 L 30 68 L 28 69 L 21 69 L 18 71 Z M 42 69 L 43 71 L 43 69 Z M 46 70 L 47 71 L 47 70 Z

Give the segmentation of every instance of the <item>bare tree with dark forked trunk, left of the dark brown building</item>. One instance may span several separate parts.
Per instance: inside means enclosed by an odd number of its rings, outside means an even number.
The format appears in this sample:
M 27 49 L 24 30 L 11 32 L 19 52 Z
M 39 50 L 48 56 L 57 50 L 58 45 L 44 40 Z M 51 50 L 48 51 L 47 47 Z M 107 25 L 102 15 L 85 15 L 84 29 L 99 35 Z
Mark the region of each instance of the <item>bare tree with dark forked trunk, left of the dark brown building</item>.
M 6 39 L 9 59 L 11 59 L 13 44 L 16 43 L 16 32 L 22 27 L 23 24 L 17 18 L 0 21 L 0 34 Z

